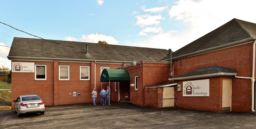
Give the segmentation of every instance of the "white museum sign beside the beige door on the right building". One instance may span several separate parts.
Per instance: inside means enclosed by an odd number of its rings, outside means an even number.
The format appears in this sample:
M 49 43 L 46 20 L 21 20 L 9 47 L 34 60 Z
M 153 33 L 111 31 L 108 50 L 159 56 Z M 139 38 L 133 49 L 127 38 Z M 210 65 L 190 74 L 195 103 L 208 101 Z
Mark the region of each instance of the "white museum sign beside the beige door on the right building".
M 183 81 L 183 96 L 209 96 L 210 80 Z

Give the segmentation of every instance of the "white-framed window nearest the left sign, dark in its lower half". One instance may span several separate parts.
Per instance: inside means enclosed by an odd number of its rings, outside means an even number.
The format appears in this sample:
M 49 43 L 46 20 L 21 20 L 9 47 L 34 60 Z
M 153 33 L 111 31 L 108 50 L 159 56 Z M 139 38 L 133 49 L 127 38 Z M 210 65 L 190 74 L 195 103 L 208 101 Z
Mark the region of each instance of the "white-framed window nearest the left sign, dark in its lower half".
M 46 65 L 35 65 L 35 80 L 46 80 Z

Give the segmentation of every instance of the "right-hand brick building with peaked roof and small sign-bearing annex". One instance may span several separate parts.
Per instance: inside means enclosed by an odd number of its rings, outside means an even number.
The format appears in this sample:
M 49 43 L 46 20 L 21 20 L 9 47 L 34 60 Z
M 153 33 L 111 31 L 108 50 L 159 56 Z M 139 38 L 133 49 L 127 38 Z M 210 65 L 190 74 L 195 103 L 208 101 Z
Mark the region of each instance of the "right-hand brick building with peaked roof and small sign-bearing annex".
M 232 19 L 172 53 L 175 106 L 254 111 L 255 43 L 256 24 Z

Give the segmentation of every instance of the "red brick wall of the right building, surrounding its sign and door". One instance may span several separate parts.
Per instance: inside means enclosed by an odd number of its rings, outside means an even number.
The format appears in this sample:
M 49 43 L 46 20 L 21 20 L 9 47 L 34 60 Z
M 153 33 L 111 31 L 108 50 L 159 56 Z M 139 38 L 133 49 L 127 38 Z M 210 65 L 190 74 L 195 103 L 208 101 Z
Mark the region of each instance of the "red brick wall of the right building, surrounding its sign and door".
M 237 71 L 237 76 L 252 77 L 252 43 L 174 61 L 174 77 L 198 68 L 220 66 Z M 182 97 L 177 92 L 178 107 L 220 111 L 222 77 L 210 79 L 210 97 Z M 198 79 L 201 80 L 201 79 Z M 183 81 L 183 80 L 182 80 Z M 182 81 L 178 84 L 182 85 Z M 185 80 L 184 80 L 185 81 Z M 232 111 L 251 111 L 251 80 L 232 77 Z M 193 104 L 188 103 L 193 102 Z M 213 104 L 208 104 L 212 103 Z M 200 106 L 198 106 L 200 105 Z

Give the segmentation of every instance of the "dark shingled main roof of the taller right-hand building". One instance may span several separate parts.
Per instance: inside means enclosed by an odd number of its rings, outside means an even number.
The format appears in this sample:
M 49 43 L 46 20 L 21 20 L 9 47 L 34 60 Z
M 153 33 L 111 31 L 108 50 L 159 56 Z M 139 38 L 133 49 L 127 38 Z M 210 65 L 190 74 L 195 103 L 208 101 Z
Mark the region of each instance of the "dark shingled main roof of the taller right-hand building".
M 205 34 L 201 38 L 189 43 L 181 49 L 172 53 L 172 58 L 187 55 L 193 52 L 198 52 L 206 49 L 211 49 L 221 45 L 225 45 L 232 42 L 256 37 L 256 24 L 232 19 L 228 23 L 213 30 L 212 32 Z M 164 57 L 161 60 L 170 59 L 170 55 Z

